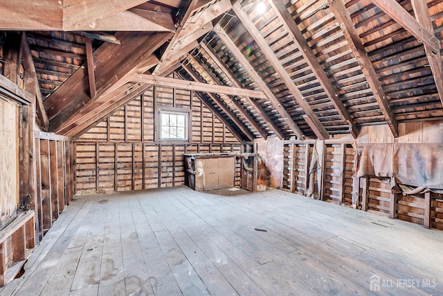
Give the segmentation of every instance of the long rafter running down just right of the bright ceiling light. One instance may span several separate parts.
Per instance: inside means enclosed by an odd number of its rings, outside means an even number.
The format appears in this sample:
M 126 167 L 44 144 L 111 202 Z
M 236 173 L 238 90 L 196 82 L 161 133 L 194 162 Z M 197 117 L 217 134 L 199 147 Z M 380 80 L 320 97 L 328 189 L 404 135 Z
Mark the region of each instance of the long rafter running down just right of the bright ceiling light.
M 323 89 L 325 89 L 329 100 L 331 100 L 332 105 L 334 105 L 341 119 L 347 122 L 347 124 L 349 125 L 352 137 L 356 139 L 359 134 L 359 129 L 356 127 L 354 121 L 347 112 L 345 105 L 343 105 L 340 96 L 338 96 L 338 93 L 334 89 L 332 82 L 327 77 L 325 70 L 323 69 L 323 67 L 321 67 L 320 62 L 318 62 L 316 55 L 307 44 L 305 37 L 303 37 L 300 29 L 296 24 L 296 21 L 293 20 L 293 17 L 287 10 L 286 6 L 284 6 L 282 0 L 272 0 L 270 2 L 280 21 L 282 21 L 284 29 L 287 31 L 287 33 L 289 33 L 289 37 L 291 37 L 291 40 L 298 47 L 298 51 L 300 51 L 300 53 L 303 55 L 303 58 L 305 58 L 307 64 L 311 68 L 311 71 L 314 72 L 314 75 L 320 82 L 320 85 L 323 87 Z

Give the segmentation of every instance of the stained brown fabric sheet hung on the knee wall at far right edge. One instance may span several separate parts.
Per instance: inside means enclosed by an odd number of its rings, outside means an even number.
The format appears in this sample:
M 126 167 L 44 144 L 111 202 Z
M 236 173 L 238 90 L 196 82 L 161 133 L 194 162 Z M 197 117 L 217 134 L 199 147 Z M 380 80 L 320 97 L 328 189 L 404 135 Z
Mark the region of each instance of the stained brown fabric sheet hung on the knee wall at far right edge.
M 394 175 L 397 184 L 443 189 L 443 144 L 396 144 Z

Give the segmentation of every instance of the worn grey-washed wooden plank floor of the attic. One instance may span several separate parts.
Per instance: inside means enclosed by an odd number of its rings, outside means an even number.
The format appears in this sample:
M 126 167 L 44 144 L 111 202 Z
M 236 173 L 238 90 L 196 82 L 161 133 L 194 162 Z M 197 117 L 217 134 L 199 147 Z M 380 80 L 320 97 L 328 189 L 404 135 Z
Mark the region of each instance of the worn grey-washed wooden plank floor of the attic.
M 0 293 L 442 295 L 442 250 L 441 231 L 278 190 L 84 195 Z

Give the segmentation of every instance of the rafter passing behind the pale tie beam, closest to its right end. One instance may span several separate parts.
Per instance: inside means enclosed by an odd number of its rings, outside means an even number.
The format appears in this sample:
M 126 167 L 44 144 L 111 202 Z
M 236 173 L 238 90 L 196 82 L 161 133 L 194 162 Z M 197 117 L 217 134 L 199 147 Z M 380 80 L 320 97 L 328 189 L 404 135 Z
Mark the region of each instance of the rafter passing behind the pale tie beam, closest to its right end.
M 228 77 L 230 82 L 233 83 L 233 85 L 237 88 L 242 88 L 243 85 L 239 82 L 239 80 L 233 75 L 232 71 L 226 66 L 226 64 L 221 61 L 221 58 L 219 55 L 214 51 L 214 49 L 210 46 L 207 46 L 203 42 L 200 44 L 201 48 L 208 53 L 210 58 L 213 59 L 215 64 L 223 71 L 224 75 Z M 257 102 L 257 100 L 254 100 L 253 98 L 249 96 L 244 96 L 246 101 L 248 101 L 249 105 L 254 107 L 254 110 L 258 113 L 258 115 L 266 122 L 267 125 L 269 125 L 269 128 L 273 131 L 274 134 L 277 135 L 277 137 L 281 140 L 283 139 L 282 133 L 278 129 L 278 126 L 275 124 L 275 122 L 266 114 L 266 112 L 263 110 L 260 103 Z

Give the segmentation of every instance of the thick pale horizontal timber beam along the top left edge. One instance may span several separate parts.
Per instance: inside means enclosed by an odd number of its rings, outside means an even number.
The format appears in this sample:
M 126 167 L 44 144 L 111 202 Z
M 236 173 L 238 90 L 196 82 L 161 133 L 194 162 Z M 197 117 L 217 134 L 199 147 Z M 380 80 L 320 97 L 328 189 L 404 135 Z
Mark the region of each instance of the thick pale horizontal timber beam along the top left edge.
M 145 0 L 2 1 L 0 28 L 17 31 L 174 31 L 172 15 L 134 8 Z

